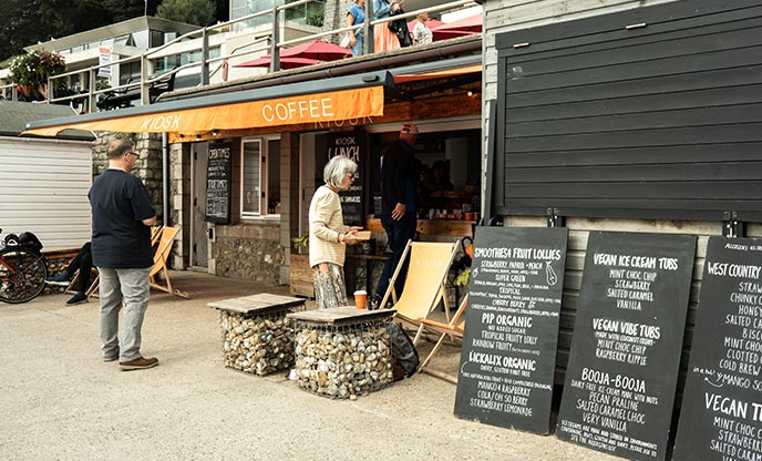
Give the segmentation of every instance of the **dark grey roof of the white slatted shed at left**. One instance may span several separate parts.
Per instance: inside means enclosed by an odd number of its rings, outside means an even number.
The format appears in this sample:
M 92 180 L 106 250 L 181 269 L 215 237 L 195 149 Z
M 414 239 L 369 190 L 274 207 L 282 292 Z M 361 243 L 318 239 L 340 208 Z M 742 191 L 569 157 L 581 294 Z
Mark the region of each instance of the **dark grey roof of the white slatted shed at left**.
M 16 102 L 0 100 L 0 136 L 18 136 L 27 129 L 27 123 L 75 115 L 68 105 Z M 95 141 L 92 132 L 66 130 L 56 136 L 60 140 Z

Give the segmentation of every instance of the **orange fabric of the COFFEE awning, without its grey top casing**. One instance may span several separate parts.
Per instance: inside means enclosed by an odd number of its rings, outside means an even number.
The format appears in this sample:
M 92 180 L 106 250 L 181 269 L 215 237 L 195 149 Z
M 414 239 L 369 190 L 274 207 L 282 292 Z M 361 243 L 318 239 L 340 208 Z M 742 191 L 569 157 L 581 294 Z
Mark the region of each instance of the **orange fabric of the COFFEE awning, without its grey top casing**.
M 161 107 L 164 104 L 156 104 Z M 120 112 L 125 112 L 121 114 Z M 113 117 L 76 121 L 45 127 L 30 127 L 22 135 L 55 136 L 64 130 L 115 131 L 124 133 L 177 133 L 192 135 L 212 130 L 240 130 L 311 122 L 333 122 L 383 115 L 383 86 L 360 88 L 318 94 L 248 101 L 218 106 L 169 110 L 127 115 L 113 111 Z M 120 116 L 121 115 L 121 116 Z

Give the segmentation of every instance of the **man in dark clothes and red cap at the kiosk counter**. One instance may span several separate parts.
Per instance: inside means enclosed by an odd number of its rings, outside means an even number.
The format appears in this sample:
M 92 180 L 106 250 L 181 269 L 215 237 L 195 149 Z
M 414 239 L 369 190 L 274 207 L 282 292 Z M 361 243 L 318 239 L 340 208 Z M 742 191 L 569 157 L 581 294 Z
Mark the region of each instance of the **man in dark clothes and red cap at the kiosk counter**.
M 372 308 L 385 307 L 379 304 L 389 288 L 389 281 L 408 240 L 415 235 L 415 182 L 421 170 L 413 148 L 416 139 L 418 126 L 412 123 L 402 125 L 400 140 L 389 147 L 381 163 L 381 225 L 387 230 L 387 242 L 392 255 L 383 266 L 375 296 L 371 300 Z M 402 294 L 406 275 L 405 263 L 394 281 L 397 296 Z

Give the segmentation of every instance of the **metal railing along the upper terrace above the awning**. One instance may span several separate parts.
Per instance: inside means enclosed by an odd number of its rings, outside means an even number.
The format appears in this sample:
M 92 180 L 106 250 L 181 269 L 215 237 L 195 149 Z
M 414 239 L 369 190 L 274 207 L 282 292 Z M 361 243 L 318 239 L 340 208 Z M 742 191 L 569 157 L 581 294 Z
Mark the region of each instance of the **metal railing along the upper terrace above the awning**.
M 97 99 L 99 96 L 103 95 L 102 98 L 105 98 L 106 93 L 126 93 L 126 92 L 135 92 L 137 89 L 140 90 L 140 96 L 136 98 L 135 100 L 140 100 L 141 105 L 150 104 L 150 90 L 151 85 L 154 84 L 155 82 L 158 82 L 161 80 L 166 79 L 171 74 L 177 74 L 178 72 L 182 72 L 183 70 L 187 70 L 190 68 L 199 68 L 200 66 L 200 85 L 208 85 L 209 84 L 209 78 L 217 72 L 220 71 L 223 65 L 230 59 L 234 58 L 240 58 L 245 55 L 251 55 L 253 53 L 259 53 L 264 50 L 269 49 L 270 52 L 270 72 L 276 72 L 280 70 L 280 52 L 281 49 L 291 47 L 298 43 L 311 41 L 311 40 L 317 40 L 321 39 L 325 37 L 336 37 L 340 35 L 342 33 L 347 33 L 352 29 L 358 29 L 358 25 L 352 25 L 352 27 L 341 27 L 337 29 L 331 29 L 328 31 L 321 31 L 318 33 L 311 33 L 307 34 L 297 39 L 291 39 L 291 40 L 281 40 L 281 28 L 285 27 L 285 21 L 281 21 L 282 18 L 285 18 L 285 11 L 292 9 L 292 8 L 298 8 L 300 6 L 311 3 L 316 0 L 299 0 L 295 1 L 292 3 L 279 6 L 279 7 L 274 7 L 268 10 L 259 11 L 257 13 L 248 14 L 243 18 L 238 18 L 235 20 L 230 20 L 227 22 L 218 23 L 215 25 L 209 25 L 206 28 L 202 28 L 192 32 L 187 32 L 183 35 L 179 35 L 175 38 L 174 40 L 164 43 L 161 47 L 146 50 L 140 55 L 135 57 L 127 57 L 127 58 L 122 58 L 116 61 L 110 61 L 109 63 L 103 63 L 103 64 L 97 64 L 93 65 L 91 68 L 85 68 L 85 69 L 80 69 L 76 71 L 70 71 L 65 72 L 52 78 L 48 79 L 48 96 L 47 101 L 48 103 L 60 103 L 60 102 L 69 102 L 70 104 L 73 104 L 74 102 L 81 102 L 82 99 L 84 98 L 84 112 L 90 112 L 94 111 L 95 107 L 97 107 Z M 409 11 L 404 12 L 402 14 L 395 14 L 392 17 L 379 19 L 379 20 L 371 20 L 373 17 L 372 12 L 372 0 L 368 0 L 365 2 L 365 21 L 362 24 L 362 28 L 364 30 L 364 54 L 370 54 L 372 52 L 372 45 L 373 45 L 373 40 L 372 40 L 372 29 L 377 24 L 384 24 L 390 21 L 395 21 L 399 19 L 409 19 L 409 18 L 414 18 L 419 13 L 428 12 L 428 13 L 435 13 L 435 12 L 441 12 L 441 11 L 455 11 L 460 10 L 466 7 L 475 7 L 478 3 L 474 0 L 455 0 L 451 1 L 447 3 L 434 6 L 434 7 L 429 7 L 429 8 L 423 8 L 420 10 L 414 10 L 414 11 Z M 251 43 L 247 43 L 245 45 L 240 45 L 235 48 L 230 53 L 219 55 L 216 58 L 209 58 L 209 38 L 212 35 L 215 35 L 217 33 L 224 33 L 226 30 L 233 30 L 233 25 L 241 22 L 247 22 L 256 18 L 261 18 L 261 17 L 267 17 L 271 16 L 271 21 L 272 21 L 272 28 L 269 31 L 269 34 L 265 33 L 262 38 L 256 39 Z M 240 31 L 239 31 L 240 32 Z M 177 53 L 165 53 L 165 51 L 171 51 L 169 49 L 177 43 L 181 43 L 183 41 L 187 40 L 197 40 L 200 39 L 200 43 L 198 47 L 190 48 L 189 50 L 192 51 L 200 51 L 202 52 L 202 59 L 200 61 L 197 62 L 189 62 L 187 64 L 183 64 L 179 66 L 176 66 L 167 72 L 161 73 L 158 75 L 154 74 L 154 63 L 153 59 L 156 59 L 157 57 L 169 57 L 169 55 L 176 55 Z M 269 42 L 269 44 L 266 44 Z M 255 47 L 253 48 L 251 45 L 259 45 L 262 44 L 262 47 Z M 187 52 L 188 50 L 184 50 L 184 52 Z M 105 88 L 105 89 L 96 89 L 96 81 L 97 81 L 97 72 L 102 68 L 110 68 L 112 65 L 116 64 L 127 64 L 132 62 L 138 62 L 141 63 L 141 79 L 138 82 L 127 82 L 124 84 L 120 84 L 116 86 L 111 86 L 111 88 Z M 214 68 L 214 70 L 210 70 Z M 78 75 L 82 74 L 83 72 L 86 72 L 87 74 L 87 80 L 86 80 L 86 85 L 85 88 L 87 89 L 86 91 L 79 92 L 75 94 L 69 94 L 64 96 L 56 96 L 55 93 L 55 88 L 56 86 L 62 86 L 60 84 L 61 81 L 65 81 L 64 79 L 71 76 L 71 75 Z M 16 85 L 14 84 L 8 84 L 8 85 L 2 85 L 0 86 L 0 91 L 6 91 L 6 89 L 11 89 L 12 91 L 12 98 L 13 100 L 17 100 L 17 92 L 16 92 Z M 135 94 L 136 95 L 136 94 Z

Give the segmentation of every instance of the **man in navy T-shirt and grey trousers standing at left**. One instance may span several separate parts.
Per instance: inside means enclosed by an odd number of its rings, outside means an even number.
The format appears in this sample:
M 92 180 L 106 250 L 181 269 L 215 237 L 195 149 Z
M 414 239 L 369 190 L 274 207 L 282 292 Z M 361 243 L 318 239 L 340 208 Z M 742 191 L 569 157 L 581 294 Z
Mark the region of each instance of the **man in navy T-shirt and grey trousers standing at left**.
M 141 329 L 148 307 L 151 226 L 156 224 L 156 211 L 141 180 L 130 174 L 138 156 L 135 144 L 114 140 L 106 156 L 109 168 L 87 194 L 93 212 L 93 264 L 101 274 L 101 350 L 104 361 L 119 359 L 123 370 L 152 368 L 158 359 L 141 356 Z

